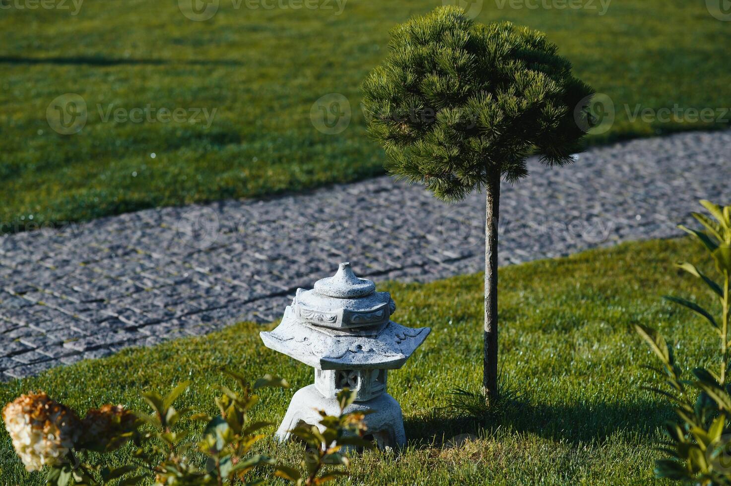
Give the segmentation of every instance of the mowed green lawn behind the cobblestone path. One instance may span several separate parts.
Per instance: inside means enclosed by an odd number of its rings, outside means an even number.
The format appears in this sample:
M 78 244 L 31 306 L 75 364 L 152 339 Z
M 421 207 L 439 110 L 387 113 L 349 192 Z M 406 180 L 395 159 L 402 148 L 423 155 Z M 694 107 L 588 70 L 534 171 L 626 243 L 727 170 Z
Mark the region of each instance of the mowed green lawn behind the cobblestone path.
M 385 56 L 389 29 L 442 1 L 220 0 L 206 21 L 189 20 L 173 0 L 78 3 L 1 0 L 1 231 L 381 173 L 360 82 Z M 705 2 L 614 0 L 606 10 L 599 0 L 578 10 L 560 8 L 575 2 L 472 2 L 480 3 L 478 21 L 545 31 L 577 75 L 610 97 L 616 121 L 589 143 L 727 126 L 629 120 L 643 108 L 730 106 L 731 29 Z M 26 4 L 37 8 L 18 8 Z M 86 104 L 77 134 L 58 134 L 47 120 L 53 99 L 67 93 Z M 337 110 L 349 105 L 352 118 L 343 132 L 324 134 L 311 107 L 333 93 L 346 97 Z M 161 109 L 184 110 L 182 121 L 165 121 Z M 110 110 L 121 110 L 118 122 L 105 121 Z

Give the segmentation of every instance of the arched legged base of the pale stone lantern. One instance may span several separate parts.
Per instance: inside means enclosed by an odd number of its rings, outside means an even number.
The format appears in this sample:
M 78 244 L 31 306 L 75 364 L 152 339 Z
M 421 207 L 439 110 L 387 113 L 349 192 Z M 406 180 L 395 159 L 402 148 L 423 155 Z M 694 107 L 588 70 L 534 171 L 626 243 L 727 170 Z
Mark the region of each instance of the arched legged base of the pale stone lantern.
M 300 388 L 289 403 L 287 414 L 276 431 L 276 437 L 280 442 L 287 441 L 291 437 L 289 430 L 297 427 L 300 422 L 317 425 L 320 430 L 325 430 L 324 426 L 319 425 L 322 420 L 319 410 L 325 410 L 326 414 L 337 417 L 340 415 L 338 399 L 323 397 L 314 384 Z M 388 393 L 384 392 L 365 402 L 353 402 L 346 407 L 345 413 L 352 411 L 371 411 L 364 419 L 368 427 L 366 435 L 373 436 L 379 449 L 406 445 L 401 406 Z

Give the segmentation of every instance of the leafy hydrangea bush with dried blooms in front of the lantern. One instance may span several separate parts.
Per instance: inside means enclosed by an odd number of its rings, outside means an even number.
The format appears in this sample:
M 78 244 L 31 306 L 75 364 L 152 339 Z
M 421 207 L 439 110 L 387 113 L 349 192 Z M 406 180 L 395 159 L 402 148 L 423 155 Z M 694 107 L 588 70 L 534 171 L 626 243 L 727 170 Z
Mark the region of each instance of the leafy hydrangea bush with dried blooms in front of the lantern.
M 270 422 L 251 422 L 247 414 L 258 401 L 254 390 L 262 387 L 288 387 L 287 381 L 265 376 L 250 386 L 243 376 L 226 372 L 238 383 L 240 392 L 219 387 L 216 398 L 220 411 L 216 417 L 189 415 L 189 410 L 176 410 L 175 400 L 186 391 L 189 382 L 179 384 L 167 396 L 145 392 L 143 397 L 153 413 L 129 411 L 122 406 L 105 405 L 89 410 L 84 419 L 74 411 L 48 398 L 45 392 L 21 395 L 3 410 L 3 420 L 15 452 L 28 471 L 41 471 L 48 466 L 47 484 L 137 485 L 154 481 L 155 485 L 247 485 L 260 482 L 249 477 L 258 466 L 271 466 L 276 475 L 296 485 L 319 485 L 338 476 L 342 469 L 326 466 L 348 466 L 343 447 L 370 447 L 360 437 L 365 430 L 363 414 L 345 414 L 344 409 L 355 399 L 355 392 L 338 394 L 339 417 L 322 413 L 320 431 L 314 425 L 300 425 L 292 430 L 308 444 L 299 468 L 277 464 L 265 455 L 251 454 L 251 447 L 265 437 L 262 428 Z M 200 441 L 192 442 L 185 432 L 178 432 L 178 421 L 187 418 L 205 422 Z M 91 461 L 88 452 L 102 456 L 132 441 L 134 461 L 119 468 L 103 468 Z M 94 455 L 94 457 L 100 457 Z M 205 467 L 199 467 L 205 464 Z

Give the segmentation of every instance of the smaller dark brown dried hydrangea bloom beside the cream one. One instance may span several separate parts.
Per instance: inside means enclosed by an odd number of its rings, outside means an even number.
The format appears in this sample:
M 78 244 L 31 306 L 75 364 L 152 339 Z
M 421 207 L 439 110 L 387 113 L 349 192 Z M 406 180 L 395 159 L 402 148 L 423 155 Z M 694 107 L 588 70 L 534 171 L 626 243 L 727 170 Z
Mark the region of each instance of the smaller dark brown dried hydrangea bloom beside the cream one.
M 81 421 L 83 436 L 80 447 L 84 449 L 110 451 L 121 447 L 137 428 L 137 417 L 121 405 L 104 405 L 91 409 Z

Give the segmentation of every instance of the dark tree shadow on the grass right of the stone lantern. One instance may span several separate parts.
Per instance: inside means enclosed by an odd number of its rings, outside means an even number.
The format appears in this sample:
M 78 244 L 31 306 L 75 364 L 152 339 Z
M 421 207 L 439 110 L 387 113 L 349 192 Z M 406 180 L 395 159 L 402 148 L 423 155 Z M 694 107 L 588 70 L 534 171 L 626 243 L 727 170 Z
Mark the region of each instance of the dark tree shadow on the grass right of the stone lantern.
M 409 442 L 416 444 L 448 444 L 463 435 L 489 436 L 499 428 L 578 444 L 605 441 L 617 432 L 651 436 L 672 417 L 670 407 L 651 401 L 547 405 L 511 400 L 480 419 L 435 409 L 406 418 L 404 427 Z

